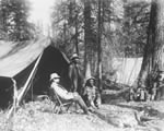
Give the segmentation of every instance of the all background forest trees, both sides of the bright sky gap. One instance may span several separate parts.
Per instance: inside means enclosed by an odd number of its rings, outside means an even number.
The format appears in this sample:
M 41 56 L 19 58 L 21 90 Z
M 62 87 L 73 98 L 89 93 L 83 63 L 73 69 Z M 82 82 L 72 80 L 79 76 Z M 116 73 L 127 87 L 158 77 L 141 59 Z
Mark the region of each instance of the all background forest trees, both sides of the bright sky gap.
M 114 58 L 143 57 L 139 78 L 145 82 L 156 67 L 163 70 L 162 5 L 155 0 L 61 0 L 52 8 L 51 37 L 68 57 L 79 53 L 83 73 L 98 80 L 115 78 Z M 1 39 L 36 36 L 30 10 L 28 0 L 0 1 Z

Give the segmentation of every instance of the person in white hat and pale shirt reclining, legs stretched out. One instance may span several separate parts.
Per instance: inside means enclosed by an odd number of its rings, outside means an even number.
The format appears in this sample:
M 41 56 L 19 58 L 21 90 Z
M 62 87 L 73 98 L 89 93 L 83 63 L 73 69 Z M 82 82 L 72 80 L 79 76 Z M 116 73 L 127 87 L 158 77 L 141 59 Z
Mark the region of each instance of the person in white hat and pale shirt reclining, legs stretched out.
M 89 109 L 87 109 L 85 103 L 83 102 L 82 97 L 77 92 L 74 92 L 74 93 L 68 92 L 67 90 L 65 90 L 65 87 L 62 87 L 59 84 L 59 82 L 60 82 L 60 76 L 57 73 L 50 74 L 50 93 L 54 96 L 56 94 L 58 94 L 58 96 L 61 99 L 72 100 L 72 102 L 78 103 L 80 105 L 80 107 L 83 109 L 84 114 L 89 114 Z

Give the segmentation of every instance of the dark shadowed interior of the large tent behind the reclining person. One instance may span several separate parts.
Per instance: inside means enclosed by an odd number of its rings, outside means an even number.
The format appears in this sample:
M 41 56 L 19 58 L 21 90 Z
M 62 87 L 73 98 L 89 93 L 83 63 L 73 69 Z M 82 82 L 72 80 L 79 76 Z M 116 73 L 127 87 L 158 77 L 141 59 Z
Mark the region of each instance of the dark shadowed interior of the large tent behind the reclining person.
M 35 61 L 33 61 L 27 68 L 13 76 L 16 81 L 17 88 L 21 88 L 32 72 Z M 30 94 L 39 95 L 47 94 L 49 86 L 49 75 L 54 72 L 58 73 L 61 76 L 61 85 L 67 90 L 70 88 L 70 80 L 68 76 L 69 62 L 63 57 L 63 53 L 52 46 L 48 46 L 40 58 L 40 61 L 36 68 L 36 71 L 30 82 L 31 91 Z M 12 94 L 12 81 L 10 78 L 0 78 L 0 107 L 9 106 Z

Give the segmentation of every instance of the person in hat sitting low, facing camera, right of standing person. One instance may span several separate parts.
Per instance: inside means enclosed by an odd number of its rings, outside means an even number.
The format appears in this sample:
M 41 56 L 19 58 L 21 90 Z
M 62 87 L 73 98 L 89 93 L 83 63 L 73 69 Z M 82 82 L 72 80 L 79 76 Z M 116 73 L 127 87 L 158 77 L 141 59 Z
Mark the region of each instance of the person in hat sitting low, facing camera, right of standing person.
M 90 109 L 98 108 L 97 105 L 98 88 L 95 86 L 94 78 L 91 76 L 86 80 L 83 96 Z

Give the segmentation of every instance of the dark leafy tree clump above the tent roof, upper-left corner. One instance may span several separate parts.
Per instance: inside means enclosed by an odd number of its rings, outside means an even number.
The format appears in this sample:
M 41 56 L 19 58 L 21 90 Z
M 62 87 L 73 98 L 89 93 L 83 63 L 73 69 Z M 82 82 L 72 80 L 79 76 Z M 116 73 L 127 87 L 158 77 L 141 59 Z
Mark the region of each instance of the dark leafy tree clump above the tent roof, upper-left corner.
M 34 25 L 27 21 L 30 15 L 27 0 L 1 0 L 0 23 L 2 39 L 27 40 L 34 36 Z

